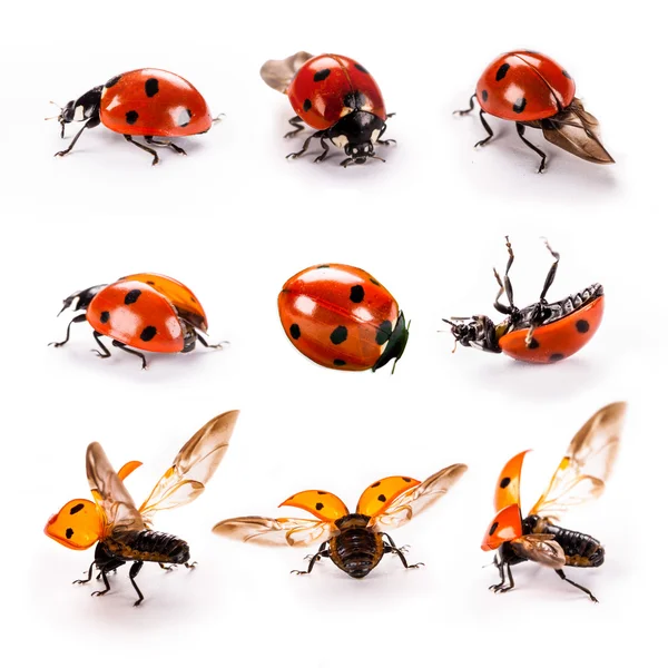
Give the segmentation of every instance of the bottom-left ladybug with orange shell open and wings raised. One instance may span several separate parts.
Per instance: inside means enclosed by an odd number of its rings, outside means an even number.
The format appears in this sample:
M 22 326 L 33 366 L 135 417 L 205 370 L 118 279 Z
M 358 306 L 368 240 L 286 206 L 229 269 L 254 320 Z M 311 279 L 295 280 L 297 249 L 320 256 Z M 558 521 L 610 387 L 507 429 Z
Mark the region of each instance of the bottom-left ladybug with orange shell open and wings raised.
M 139 509 L 122 481 L 141 463 L 128 462 L 117 473 L 99 443 L 88 446 L 86 473 L 95 503 L 73 499 L 45 527 L 49 538 L 71 550 L 87 550 L 97 542 L 88 578 L 75 583 L 90 582 L 92 569 L 97 568 L 97 579 L 101 578 L 105 589 L 91 596 L 104 596 L 111 589 L 107 574 L 131 561 L 130 582 L 139 597 L 135 602 L 138 606 L 144 595 L 135 578 L 145 561 L 157 562 L 167 570 L 179 563 L 194 567 L 189 563 L 188 543 L 176 536 L 154 531 L 153 518 L 157 511 L 190 503 L 204 492 L 206 482 L 227 452 L 237 416 L 238 411 L 229 411 L 207 422 L 181 448 Z

